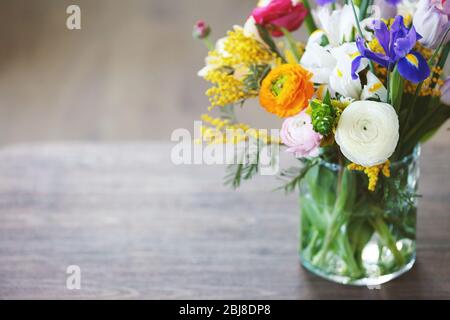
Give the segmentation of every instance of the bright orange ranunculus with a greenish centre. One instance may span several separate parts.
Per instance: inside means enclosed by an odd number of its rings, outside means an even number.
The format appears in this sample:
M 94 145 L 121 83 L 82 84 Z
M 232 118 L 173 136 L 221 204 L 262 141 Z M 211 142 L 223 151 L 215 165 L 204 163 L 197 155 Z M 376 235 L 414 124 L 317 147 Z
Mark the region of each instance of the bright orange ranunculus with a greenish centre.
M 297 64 L 282 64 L 270 71 L 261 84 L 260 104 L 279 117 L 298 114 L 314 94 L 312 74 Z

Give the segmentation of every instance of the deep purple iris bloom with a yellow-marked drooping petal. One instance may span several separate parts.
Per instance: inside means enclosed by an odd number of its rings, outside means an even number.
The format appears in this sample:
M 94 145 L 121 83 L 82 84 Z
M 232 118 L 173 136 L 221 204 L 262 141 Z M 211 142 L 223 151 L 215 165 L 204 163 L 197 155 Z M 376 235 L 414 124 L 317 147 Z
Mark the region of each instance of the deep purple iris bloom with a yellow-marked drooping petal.
M 430 68 L 427 61 L 418 52 L 412 51 L 417 40 L 422 38 L 414 27 L 408 29 L 403 23 L 402 16 L 395 17 L 390 29 L 381 20 L 374 20 L 373 26 L 375 37 L 384 53 L 370 51 L 364 45 L 364 39 L 358 37 L 356 46 L 361 55 L 352 61 L 352 78 L 354 80 L 358 78 L 356 72 L 363 58 L 372 60 L 391 71 L 397 65 L 400 75 L 413 83 L 428 78 Z

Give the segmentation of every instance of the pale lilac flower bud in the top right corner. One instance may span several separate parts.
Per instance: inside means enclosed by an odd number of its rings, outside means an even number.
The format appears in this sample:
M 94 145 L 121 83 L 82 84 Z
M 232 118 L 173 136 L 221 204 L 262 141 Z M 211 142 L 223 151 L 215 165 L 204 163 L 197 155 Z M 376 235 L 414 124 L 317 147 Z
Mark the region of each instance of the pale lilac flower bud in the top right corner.
M 419 42 L 426 48 L 436 49 L 450 26 L 450 9 L 441 0 L 420 0 L 414 13 L 413 25 L 422 36 Z M 445 39 L 446 42 L 449 37 Z

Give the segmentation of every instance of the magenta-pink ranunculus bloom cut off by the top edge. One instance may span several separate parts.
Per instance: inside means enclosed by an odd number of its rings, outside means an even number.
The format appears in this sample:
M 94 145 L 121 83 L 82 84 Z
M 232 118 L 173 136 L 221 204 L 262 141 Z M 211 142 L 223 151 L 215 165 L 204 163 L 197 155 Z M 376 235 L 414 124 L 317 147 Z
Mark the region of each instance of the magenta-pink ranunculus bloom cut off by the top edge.
M 257 24 L 263 25 L 274 37 L 283 36 L 280 28 L 295 31 L 308 15 L 308 10 L 296 0 L 271 0 L 268 4 L 256 7 L 252 14 Z

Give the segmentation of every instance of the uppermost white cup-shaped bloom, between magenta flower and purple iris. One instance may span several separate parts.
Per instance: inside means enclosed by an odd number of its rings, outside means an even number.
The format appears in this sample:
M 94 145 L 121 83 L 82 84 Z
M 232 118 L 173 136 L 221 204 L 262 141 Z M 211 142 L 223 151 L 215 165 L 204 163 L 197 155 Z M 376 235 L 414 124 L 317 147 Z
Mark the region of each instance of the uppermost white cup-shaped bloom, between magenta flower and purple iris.
M 355 9 L 358 11 L 357 7 Z M 320 28 L 328 36 L 332 47 L 352 39 L 356 24 L 350 5 L 344 5 L 335 10 L 331 10 L 328 6 L 321 6 L 314 10 L 313 15 Z

